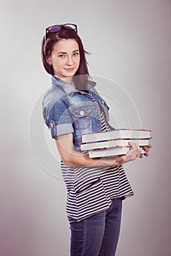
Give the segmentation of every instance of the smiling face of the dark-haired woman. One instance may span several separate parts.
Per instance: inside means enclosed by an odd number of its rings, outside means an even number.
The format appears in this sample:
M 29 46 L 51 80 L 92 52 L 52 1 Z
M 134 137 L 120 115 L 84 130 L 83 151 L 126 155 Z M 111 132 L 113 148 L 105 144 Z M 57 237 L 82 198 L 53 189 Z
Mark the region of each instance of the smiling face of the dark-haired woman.
M 52 64 L 54 75 L 61 80 L 75 75 L 80 66 L 80 50 L 75 39 L 61 39 L 56 42 L 47 62 Z

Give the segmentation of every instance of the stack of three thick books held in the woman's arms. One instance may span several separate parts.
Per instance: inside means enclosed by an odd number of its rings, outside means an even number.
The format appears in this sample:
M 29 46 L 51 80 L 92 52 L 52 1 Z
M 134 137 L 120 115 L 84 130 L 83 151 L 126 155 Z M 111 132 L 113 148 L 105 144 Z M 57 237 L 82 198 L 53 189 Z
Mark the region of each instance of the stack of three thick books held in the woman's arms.
M 82 135 L 81 151 L 88 151 L 89 157 L 110 157 L 127 154 L 129 141 L 141 148 L 148 146 L 151 139 L 149 129 L 113 129 L 110 132 L 86 133 Z M 141 154 L 145 151 L 142 148 Z

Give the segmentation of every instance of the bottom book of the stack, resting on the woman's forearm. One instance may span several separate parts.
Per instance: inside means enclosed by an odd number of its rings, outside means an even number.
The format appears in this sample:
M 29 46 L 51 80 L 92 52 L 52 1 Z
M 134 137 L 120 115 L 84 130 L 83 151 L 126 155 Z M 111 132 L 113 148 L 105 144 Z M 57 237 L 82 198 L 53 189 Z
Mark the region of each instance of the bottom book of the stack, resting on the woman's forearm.
M 89 157 L 115 157 L 123 154 L 127 154 L 129 152 L 129 147 L 115 147 L 115 148 L 103 148 L 103 149 L 95 149 L 89 151 Z M 141 154 L 144 154 L 145 151 L 141 148 Z

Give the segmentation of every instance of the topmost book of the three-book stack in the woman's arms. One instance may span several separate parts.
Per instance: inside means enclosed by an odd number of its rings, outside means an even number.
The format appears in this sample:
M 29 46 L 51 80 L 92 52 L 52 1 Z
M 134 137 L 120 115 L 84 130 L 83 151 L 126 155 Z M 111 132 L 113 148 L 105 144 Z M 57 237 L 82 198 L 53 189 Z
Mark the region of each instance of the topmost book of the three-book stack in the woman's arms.
M 147 139 L 151 138 L 151 130 L 148 129 L 113 129 L 109 132 L 86 133 L 82 135 L 82 143 L 92 143 L 104 140 L 116 139 Z

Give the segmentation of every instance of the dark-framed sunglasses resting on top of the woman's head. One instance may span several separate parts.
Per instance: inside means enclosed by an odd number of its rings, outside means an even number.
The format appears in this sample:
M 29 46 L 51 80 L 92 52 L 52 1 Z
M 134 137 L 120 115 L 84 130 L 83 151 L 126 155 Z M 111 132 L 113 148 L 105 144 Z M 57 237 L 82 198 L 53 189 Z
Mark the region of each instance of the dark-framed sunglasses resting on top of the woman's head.
M 50 34 L 57 33 L 62 28 L 74 30 L 75 32 L 77 32 L 77 25 L 76 24 L 72 24 L 72 23 L 66 23 L 66 24 L 61 24 L 61 25 L 49 26 L 46 29 L 46 31 L 45 31 L 45 41 L 47 40 L 48 37 L 50 37 Z

